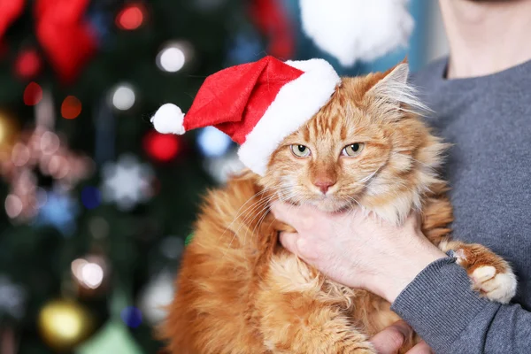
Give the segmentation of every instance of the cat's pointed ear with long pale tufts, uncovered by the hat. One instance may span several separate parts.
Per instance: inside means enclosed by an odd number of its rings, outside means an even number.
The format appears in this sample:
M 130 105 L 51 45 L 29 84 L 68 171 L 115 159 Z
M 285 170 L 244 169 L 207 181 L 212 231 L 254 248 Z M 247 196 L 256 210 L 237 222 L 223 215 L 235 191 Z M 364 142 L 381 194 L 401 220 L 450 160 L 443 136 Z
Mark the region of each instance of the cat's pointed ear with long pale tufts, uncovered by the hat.
M 420 102 L 416 90 L 408 82 L 408 76 L 407 58 L 383 73 L 381 80 L 366 92 L 366 97 L 371 99 L 373 109 L 395 113 L 427 111 L 426 105 Z

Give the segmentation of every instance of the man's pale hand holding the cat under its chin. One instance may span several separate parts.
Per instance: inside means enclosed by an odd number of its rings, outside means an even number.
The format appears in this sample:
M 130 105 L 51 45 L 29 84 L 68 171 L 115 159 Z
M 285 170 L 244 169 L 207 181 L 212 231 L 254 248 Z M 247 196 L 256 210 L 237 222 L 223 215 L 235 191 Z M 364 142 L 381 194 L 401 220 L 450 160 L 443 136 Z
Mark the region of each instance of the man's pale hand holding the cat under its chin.
M 320 212 L 281 202 L 272 211 L 296 229 L 281 233 L 286 249 L 331 279 L 390 303 L 428 264 L 446 257 L 422 235 L 415 215 L 396 226 L 362 212 Z

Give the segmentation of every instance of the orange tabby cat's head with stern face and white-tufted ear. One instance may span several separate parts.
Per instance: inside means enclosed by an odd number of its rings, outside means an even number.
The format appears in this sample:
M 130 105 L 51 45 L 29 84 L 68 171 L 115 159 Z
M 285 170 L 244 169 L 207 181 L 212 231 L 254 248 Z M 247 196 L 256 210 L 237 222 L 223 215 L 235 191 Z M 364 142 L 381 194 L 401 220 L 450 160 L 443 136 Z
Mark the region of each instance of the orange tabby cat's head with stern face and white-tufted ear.
M 444 145 L 401 108 L 417 104 L 406 78 L 407 66 L 398 65 L 342 79 L 330 102 L 273 153 L 266 187 L 291 203 L 328 212 L 361 205 L 391 220 L 419 206 Z

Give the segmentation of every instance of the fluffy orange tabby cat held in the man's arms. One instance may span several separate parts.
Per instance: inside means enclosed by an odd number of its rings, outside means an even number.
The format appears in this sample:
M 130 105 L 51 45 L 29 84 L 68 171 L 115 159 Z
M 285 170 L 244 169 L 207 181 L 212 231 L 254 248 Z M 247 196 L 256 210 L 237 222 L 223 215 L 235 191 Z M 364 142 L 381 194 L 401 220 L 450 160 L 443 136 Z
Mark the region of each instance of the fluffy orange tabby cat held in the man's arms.
M 474 289 L 507 302 L 510 266 L 481 245 L 449 239 L 451 207 L 436 173 L 446 145 L 415 113 L 407 64 L 343 78 L 330 101 L 281 143 L 263 177 L 245 172 L 206 196 L 162 327 L 174 354 L 374 353 L 367 339 L 396 321 L 390 304 L 348 289 L 277 241 L 273 198 L 325 211 L 361 208 L 400 223 L 413 210 Z M 410 341 L 403 350 L 411 348 Z

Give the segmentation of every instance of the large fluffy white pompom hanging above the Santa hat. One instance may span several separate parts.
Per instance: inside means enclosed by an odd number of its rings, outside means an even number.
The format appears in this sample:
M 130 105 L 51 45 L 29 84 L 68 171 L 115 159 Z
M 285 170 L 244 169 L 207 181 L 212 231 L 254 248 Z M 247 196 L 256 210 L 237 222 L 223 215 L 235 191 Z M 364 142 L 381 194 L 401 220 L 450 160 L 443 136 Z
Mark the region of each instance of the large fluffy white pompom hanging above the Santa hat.
M 409 0 L 300 0 L 304 33 L 350 66 L 405 46 L 413 29 Z

